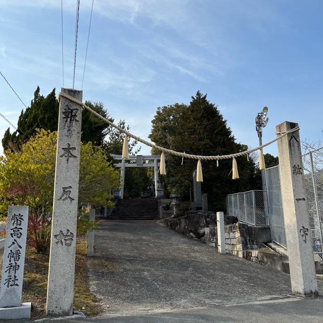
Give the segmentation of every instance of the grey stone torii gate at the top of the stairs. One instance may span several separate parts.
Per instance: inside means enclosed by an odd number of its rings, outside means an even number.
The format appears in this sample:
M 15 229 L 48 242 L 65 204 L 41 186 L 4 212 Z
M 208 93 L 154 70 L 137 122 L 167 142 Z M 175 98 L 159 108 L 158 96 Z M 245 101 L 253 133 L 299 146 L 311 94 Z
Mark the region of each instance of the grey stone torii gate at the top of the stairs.
M 121 160 L 121 163 L 114 164 L 115 167 L 121 168 L 120 171 L 120 198 L 123 199 L 124 194 L 124 186 L 125 186 L 125 171 L 127 167 L 153 167 L 154 168 L 154 180 L 155 180 L 155 197 L 163 197 L 164 190 L 162 188 L 158 188 L 158 168 L 160 163 L 160 155 L 136 155 L 129 156 L 128 160 L 136 160 L 136 163 L 126 163 L 126 159 L 122 157 L 122 155 L 110 154 L 116 160 Z M 153 160 L 152 163 L 144 163 L 145 160 Z

